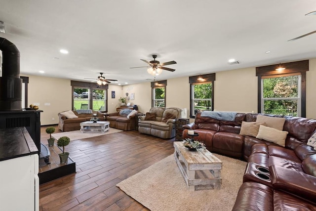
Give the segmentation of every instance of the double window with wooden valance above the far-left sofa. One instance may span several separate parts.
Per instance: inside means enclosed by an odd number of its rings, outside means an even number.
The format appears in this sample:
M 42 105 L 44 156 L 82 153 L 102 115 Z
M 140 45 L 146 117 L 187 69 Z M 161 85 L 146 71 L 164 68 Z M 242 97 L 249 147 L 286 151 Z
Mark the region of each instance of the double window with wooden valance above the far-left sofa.
M 93 109 L 107 112 L 108 84 L 71 81 L 73 86 L 73 109 Z

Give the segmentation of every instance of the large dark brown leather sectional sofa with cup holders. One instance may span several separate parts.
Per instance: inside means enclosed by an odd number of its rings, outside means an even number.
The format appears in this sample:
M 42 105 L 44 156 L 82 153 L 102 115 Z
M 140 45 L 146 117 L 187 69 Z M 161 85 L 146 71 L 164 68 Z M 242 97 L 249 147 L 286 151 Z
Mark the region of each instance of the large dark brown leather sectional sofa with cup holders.
M 237 113 L 235 121 L 201 117 L 184 126 L 194 129 L 211 152 L 248 162 L 233 211 L 316 211 L 316 150 L 307 145 L 316 132 L 316 120 L 285 116 L 285 147 L 239 135 L 242 121 L 255 122 L 258 114 Z M 280 117 L 280 116 L 273 116 Z

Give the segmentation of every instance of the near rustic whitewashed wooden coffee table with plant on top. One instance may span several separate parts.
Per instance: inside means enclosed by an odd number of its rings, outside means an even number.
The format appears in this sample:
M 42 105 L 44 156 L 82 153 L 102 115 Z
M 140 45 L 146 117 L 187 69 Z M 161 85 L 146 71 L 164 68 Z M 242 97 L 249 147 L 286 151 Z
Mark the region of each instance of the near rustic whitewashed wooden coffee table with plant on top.
M 220 189 L 222 184 L 222 161 L 206 149 L 189 151 L 183 142 L 173 142 L 176 163 L 186 181 L 189 190 Z M 197 170 L 207 170 L 208 178 L 196 178 Z M 207 173 L 204 174 L 207 176 Z

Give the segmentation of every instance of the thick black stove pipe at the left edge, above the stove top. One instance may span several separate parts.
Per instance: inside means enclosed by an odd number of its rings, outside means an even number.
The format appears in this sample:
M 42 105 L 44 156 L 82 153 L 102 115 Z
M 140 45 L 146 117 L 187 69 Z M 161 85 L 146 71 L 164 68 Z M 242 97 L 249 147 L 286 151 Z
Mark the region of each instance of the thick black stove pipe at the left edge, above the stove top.
M 0 111 L 22 110 L 20 51 L 12 42 L 0 38 L 2 77 L 0 77 Z

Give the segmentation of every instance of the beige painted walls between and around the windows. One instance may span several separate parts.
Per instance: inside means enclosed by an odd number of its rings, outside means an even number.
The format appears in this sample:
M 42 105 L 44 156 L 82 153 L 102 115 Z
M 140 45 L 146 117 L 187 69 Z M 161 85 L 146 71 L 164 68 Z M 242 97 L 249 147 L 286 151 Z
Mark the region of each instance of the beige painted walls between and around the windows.
M 257 112 L 257 77 L 255 67 L 243 68 L 216 73 L 214 84 L 214 109 L 217 111 Z M 310 69 L 307 72 L 306 117 L 316 119 L 316 58 L 310 59 Z M 30 77 L 29 104 L 40 103 L 41 125 L 58 124 L 57 114 L 71 109 L 72 93 L 70 80 Z M 111 98 L 111 91 L 116 92 L 116 98 Z M 138 105 L 141 112 L 146 113 L 151 108 L 151 83 L 131 85 L 109 85 L 108 112 L 116 111 L 120 106 L 119 97 L 134 93 L 132 105 Z M 50 106 L 44 106 L 44 103 Z M 167 80 L 166 106 L 187 108 L 190 114 L 190 84 L 188 77 Z M 52 121 L 52 118 L 55 118 Z M 193 122 L 191 119 L 190 122 Z

